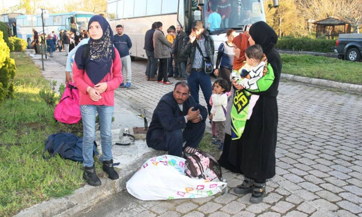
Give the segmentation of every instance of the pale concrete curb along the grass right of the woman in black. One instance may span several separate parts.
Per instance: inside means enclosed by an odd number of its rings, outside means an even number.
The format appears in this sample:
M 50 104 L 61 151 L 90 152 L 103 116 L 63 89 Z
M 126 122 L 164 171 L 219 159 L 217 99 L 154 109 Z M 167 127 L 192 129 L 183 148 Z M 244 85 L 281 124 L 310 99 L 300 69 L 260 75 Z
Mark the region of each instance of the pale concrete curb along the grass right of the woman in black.
M 337 88 L 342 91 L 346 91 L 346 92 L 350 92 L 350 93 L 357 93 L 359 95 L 362 95 L 362 85 L 358 85 L 358 84 L 333 82 L 330 80 L 308 78 L 308 77 L 289 75 L 289 74 L 281 74 L 280 78 L 285 79 L 285 80 L 294 81 L 294 82 L 301 82 L 301 83 L 316 85 L 319 87 Z

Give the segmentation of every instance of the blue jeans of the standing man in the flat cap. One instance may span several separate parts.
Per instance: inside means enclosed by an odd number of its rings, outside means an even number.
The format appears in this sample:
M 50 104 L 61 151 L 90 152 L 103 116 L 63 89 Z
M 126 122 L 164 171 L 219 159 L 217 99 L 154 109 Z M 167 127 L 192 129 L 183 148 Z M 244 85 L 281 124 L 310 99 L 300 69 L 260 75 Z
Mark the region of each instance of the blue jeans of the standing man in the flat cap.
M 199 104 L 199 87 L 201 87 L 204 95 L 207 111 L 211 112 L 210 97 L 212 93 L 210 74 L 206 74 L 201 71 L 191 71 L 190 75 L 187 76 L 187 83 L 191 87 L 191 96 L 195 99 L 196 103 Z

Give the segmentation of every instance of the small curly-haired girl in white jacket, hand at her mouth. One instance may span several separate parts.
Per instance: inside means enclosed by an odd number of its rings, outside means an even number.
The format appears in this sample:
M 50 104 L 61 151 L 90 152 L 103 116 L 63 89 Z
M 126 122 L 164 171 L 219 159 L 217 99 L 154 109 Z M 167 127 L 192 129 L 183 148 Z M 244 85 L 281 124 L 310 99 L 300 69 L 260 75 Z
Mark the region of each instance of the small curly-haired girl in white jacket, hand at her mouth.
M 218 150 L 222 151 L 224 147 L 225 138 L 225 121 L 226 121 L 226 106 L 227 94 L 230 91 L 229 83 L 224 79 L 218 79 L 214 82 L 214 89 L 212 90 L 212 121 L 215 122 L 218 137 L 215 145 L 219 145 Z

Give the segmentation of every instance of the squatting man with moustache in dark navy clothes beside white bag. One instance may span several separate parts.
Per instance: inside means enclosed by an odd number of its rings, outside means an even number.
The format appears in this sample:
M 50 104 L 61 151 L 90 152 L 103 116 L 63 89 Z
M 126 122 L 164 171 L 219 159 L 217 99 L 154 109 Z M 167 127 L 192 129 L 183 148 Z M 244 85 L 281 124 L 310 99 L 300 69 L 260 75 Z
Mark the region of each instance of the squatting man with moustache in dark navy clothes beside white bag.
M 205 132 L 207 110 L 190 96 L 186 82 L 176 83 L 173 92 L 164 95 L 152 115 L 147 131 L 147 146 L 181 157 L 182 144 L 198 147 Z

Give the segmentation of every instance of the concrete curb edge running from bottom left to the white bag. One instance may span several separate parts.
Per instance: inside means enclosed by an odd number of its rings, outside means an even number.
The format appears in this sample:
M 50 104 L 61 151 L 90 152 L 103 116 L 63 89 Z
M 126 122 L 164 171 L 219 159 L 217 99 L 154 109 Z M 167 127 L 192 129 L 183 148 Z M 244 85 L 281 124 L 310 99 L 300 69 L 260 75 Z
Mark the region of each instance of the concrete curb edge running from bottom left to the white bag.
M 119 179 L 102 179 L 102 185 L 92 187 L 85 185 L 77 189 L 72 195 L 44 201 L 31 206 L 15 215 L 16 217 L 64 217 L 75 214 L 97 204 L 109 195 L 121 192 L 126 187 L 126 182 L 138 170 L 140 166 L 149 158 L 164 154 L 163 151 L 152 150 L 143 154 L 132 166 L 119 172 Z

